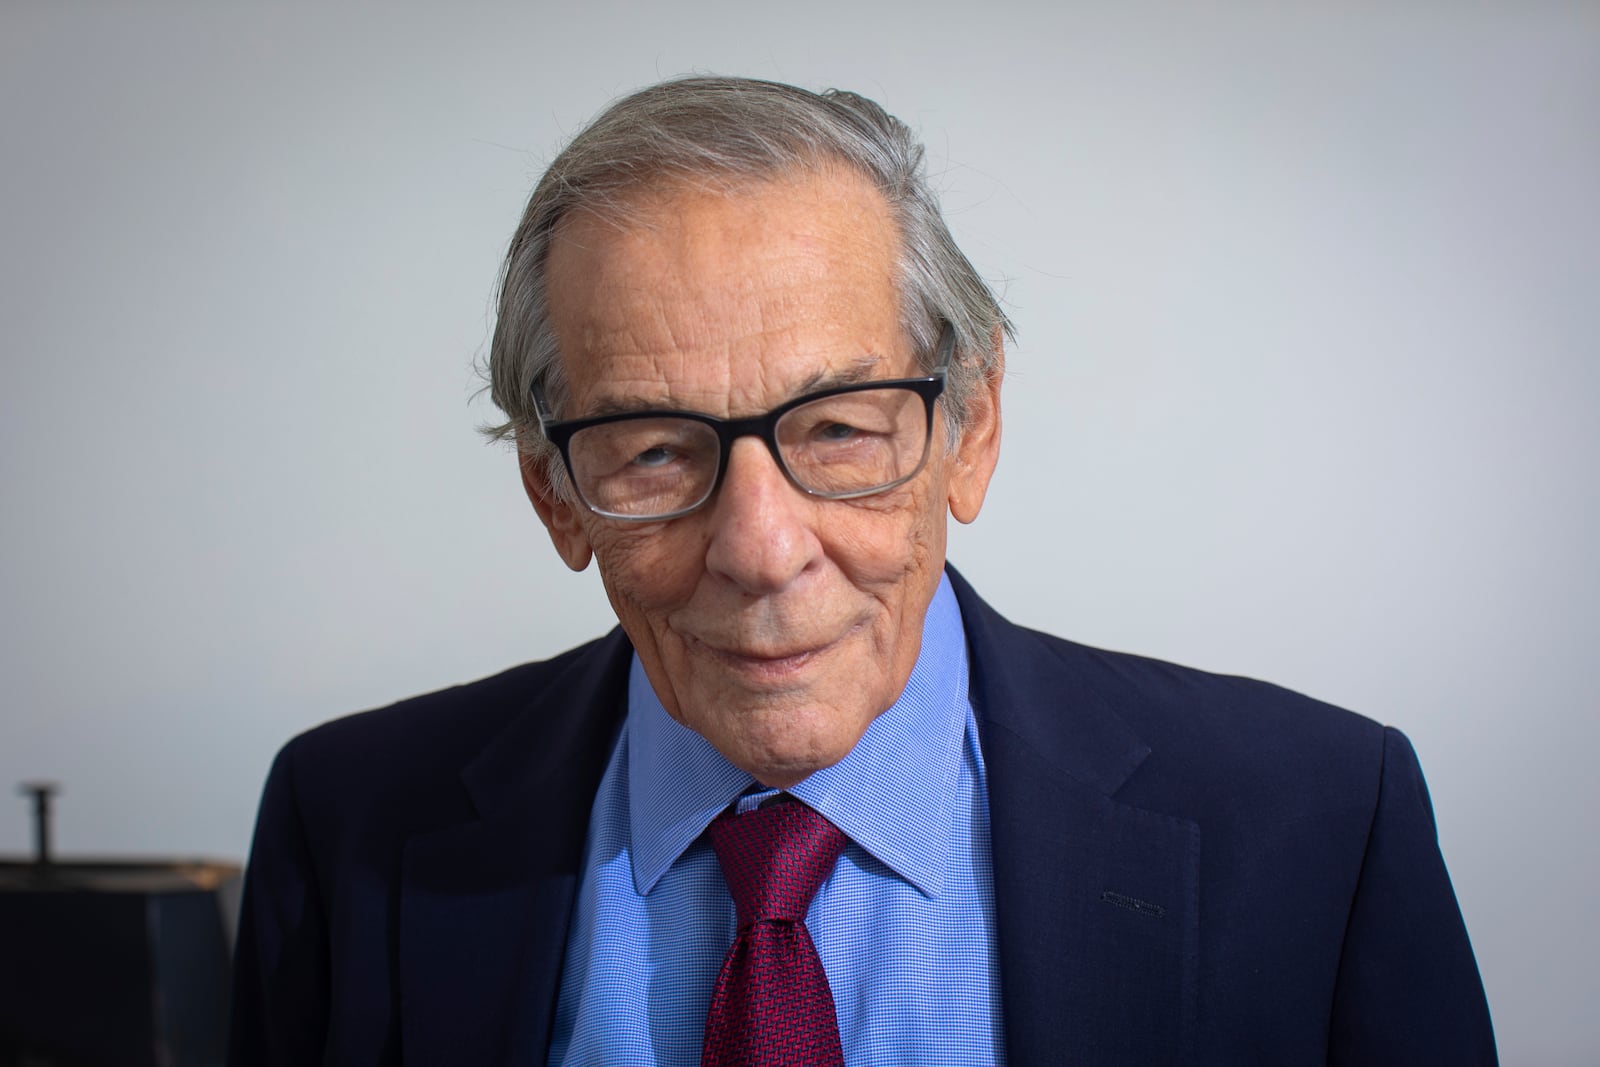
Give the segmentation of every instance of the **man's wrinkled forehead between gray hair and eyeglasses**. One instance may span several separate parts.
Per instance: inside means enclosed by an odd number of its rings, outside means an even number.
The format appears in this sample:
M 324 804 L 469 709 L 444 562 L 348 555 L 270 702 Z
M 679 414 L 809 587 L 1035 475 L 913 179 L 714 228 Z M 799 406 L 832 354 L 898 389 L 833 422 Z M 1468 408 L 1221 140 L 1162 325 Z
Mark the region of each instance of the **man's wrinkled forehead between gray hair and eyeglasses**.
M 562 221 L 546 269 L 571 405 L 765 410 L 910 373 L 899 235 L 850 171 L 672 182 Z

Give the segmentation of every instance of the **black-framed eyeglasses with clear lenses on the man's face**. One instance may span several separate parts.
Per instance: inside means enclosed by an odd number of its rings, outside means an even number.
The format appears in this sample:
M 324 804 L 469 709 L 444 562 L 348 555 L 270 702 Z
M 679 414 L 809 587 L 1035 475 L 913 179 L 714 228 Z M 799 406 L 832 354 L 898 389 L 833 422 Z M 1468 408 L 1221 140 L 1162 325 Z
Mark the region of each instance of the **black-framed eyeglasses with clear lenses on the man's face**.
M 533 384 L 539 430 L 562 453 L 579 499 L 597 515 L 659 522 L 688 515 L 717 493 L 728 451 L 760 437 L 789 482 L 810 496 L 846 501 L 917 477 L 933 442 L 933 402 L 955 352 L 946 323 L 925 378 L 835 386 L 747 419 L 699 411 L 627 411 L 555 419 Z

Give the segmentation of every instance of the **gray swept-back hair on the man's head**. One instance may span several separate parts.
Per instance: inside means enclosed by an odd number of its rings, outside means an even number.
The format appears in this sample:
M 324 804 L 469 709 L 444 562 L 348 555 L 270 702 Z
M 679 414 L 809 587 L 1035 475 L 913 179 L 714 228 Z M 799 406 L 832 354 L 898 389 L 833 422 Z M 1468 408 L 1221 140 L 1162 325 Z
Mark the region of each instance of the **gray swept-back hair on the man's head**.
M 856 93 L 811 93 L 778 82 L 688 77 L 651 85 L 613 102 L 555 157 L 528 198 L 501 270 L 488 379 L 506 421 L 485 427 L 496 440 L 542 458 L 565 493 L 566 472 L 539 434 L 531 389 L 542 379 L 562 411 L 566 379 L 546 298 L 546 261 L 562 219 L 574 210 L 626 221 L 627 197 L 662 181 L 770 181 L 843 163 L 888 202 L 899 227 L 901 322 L 925 370 L 939 331 L 955 333 L 946 382 L 947 440 L 957 442 L 973 390 L 995 373 L 992 338 L 1011 323 L 989 286 L 955 246 L 923 171 L 923 147 L 901 120 Z

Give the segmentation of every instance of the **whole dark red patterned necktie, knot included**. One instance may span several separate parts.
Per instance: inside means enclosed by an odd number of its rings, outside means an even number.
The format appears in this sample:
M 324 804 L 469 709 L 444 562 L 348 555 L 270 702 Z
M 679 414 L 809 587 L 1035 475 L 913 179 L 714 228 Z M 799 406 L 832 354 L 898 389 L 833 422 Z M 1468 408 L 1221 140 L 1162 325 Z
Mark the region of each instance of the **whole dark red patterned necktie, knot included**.
M 798 801 L 706 830 L 739 912 L 706 1014 L 701 1067 L 843 1067 L 834 993 L 805 928 L 845 835 Z

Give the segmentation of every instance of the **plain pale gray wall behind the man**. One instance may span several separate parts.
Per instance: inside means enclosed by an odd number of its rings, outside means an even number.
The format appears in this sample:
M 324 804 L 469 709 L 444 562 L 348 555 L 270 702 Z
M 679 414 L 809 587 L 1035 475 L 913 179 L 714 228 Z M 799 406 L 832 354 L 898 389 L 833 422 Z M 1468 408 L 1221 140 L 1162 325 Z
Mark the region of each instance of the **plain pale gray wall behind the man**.
M 11 0 L 0 784 L 243 857 L 296 731 L 610 625 L 472 363 L 544 162 L 693 70 L 925 136 L 1021 331 L 990 601 L 1402 726 L 1506 1061 L 1597 1062 L 1594 3 Z

